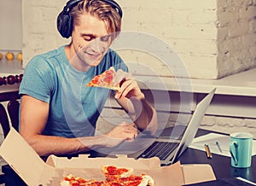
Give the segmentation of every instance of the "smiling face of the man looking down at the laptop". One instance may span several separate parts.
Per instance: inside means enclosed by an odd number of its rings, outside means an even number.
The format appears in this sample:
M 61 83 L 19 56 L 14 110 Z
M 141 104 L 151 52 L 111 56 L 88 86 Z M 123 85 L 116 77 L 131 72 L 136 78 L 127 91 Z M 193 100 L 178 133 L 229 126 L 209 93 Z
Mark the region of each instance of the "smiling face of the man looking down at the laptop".
M 73 29 L 73 48 L 83 61 L 89 66 L 97 66 L 108 51 L 111 36 L 103 20 L 88 14 L 82 15 L 79 26 Z

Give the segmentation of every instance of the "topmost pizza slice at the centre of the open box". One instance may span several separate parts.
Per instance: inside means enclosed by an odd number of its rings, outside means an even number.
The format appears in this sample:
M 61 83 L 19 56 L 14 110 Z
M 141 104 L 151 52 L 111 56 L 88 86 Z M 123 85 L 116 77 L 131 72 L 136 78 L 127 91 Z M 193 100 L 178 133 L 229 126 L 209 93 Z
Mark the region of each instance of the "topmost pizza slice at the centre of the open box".
M 119 177 L 128 177 L 133 172 L 133 169 L 118 166 L 102 166 L 102 171 L 107 181 L 109 181 L 115 180 Z

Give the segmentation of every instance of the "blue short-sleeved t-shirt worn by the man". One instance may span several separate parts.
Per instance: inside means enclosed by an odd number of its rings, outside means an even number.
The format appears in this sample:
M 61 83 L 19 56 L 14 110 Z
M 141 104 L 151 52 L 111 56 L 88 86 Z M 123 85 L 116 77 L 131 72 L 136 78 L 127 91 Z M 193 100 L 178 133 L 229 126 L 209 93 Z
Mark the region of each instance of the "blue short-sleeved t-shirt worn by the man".
M 124 61 L 112 49 L 108 49 L 97 67 L 90 67 L 87 72 L 79 72 L 70 65 L 65 46 L 37 55 L 29 61 L 20 84 L 20 95 L 49 103 L 44 135 L 94 136 L 96 121 L 110 90 L 86 87 L 85 84 L 109 67 L 128 71 Z

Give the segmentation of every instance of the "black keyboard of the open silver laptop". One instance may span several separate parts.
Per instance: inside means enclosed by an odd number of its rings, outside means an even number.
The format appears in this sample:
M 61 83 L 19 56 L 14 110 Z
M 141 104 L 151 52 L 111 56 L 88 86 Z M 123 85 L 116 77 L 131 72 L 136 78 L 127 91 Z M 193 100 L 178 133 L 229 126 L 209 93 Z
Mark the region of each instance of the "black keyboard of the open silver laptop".
M 137 159 L 159 157 L 160 160 L 166 160 L 178 144 L 178 142 L 153 142 Z

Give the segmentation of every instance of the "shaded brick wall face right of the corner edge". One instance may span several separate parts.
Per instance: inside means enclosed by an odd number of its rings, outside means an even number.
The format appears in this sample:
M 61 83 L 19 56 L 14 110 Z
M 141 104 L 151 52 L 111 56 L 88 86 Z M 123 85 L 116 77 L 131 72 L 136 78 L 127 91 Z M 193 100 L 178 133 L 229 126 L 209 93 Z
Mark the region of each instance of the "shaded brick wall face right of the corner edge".
M 218 1 L 218 76 L 256 65 L 255 0 Z

